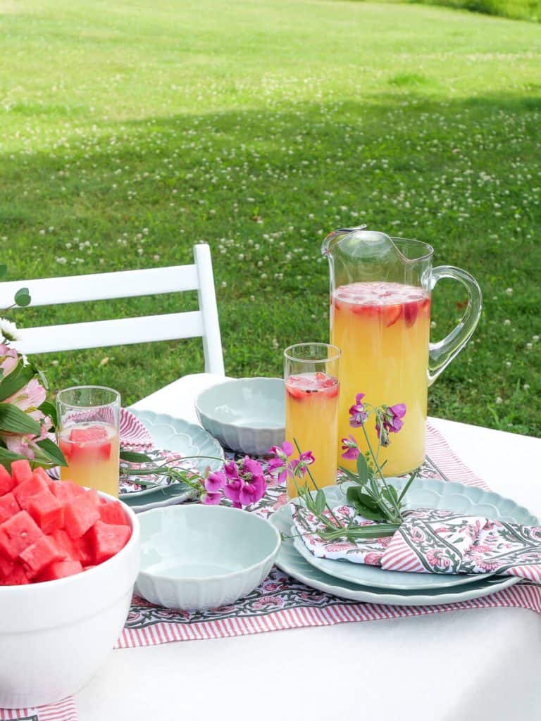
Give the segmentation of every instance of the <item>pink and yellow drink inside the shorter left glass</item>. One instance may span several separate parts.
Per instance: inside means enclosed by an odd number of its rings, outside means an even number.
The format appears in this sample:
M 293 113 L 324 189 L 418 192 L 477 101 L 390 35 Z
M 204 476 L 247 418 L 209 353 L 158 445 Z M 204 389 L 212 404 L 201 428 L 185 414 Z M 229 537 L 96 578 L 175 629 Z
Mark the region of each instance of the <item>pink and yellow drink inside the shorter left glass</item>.
M 61 467 L 61 480 L 95 488 L 118 497 L 118 430 L 106 423 L 77 423 L 58 436 L 68 465 Z

